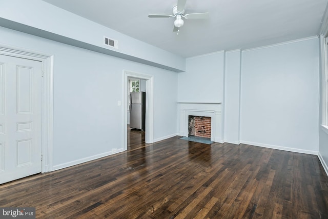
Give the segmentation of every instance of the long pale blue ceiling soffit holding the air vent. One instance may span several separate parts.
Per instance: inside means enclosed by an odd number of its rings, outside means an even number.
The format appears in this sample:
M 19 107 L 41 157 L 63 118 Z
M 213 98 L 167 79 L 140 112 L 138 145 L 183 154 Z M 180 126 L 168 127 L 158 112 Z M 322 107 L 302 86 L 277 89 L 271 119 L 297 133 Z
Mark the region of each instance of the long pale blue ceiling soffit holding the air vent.
M 177 72 L 186 66 L 185 58 L 41 0 L 2 0 L 0 25 Z M 104 36 L 116 39 L 118 49 L 105 46 Z

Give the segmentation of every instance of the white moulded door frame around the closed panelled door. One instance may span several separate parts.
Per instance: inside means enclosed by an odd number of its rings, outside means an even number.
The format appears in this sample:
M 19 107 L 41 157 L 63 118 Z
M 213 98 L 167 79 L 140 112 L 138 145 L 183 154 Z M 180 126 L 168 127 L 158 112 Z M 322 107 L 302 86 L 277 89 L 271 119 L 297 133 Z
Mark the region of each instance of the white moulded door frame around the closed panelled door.
M 0 44 L 0 54 L 42 62 L 42 162 L 41 171 L 53 171 L 54 55 Z

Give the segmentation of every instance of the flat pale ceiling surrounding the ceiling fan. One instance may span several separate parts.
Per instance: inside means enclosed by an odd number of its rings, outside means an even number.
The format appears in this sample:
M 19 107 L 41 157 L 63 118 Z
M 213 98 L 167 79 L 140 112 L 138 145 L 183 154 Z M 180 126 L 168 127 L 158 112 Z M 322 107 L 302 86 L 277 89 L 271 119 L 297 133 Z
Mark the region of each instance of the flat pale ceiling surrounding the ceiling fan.
M 187 0 L 188 19 L 173 32 L 177 0 L 43 0 L 140 41 L 191 57 L 221 50 L 249 49 L 318 35 L 328 0 Z M 60 15 L 58 15 L 60 16 Z M 92 30 L 90 30 L 92 31 Z

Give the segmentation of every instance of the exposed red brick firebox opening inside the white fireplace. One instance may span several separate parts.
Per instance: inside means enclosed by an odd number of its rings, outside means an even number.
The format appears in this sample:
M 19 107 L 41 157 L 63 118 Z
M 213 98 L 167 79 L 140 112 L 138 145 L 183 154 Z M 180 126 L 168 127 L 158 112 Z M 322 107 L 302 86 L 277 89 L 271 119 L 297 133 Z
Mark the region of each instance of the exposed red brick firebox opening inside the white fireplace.
M 189 115 L 188 136 L 211 137 L 211 117 Z

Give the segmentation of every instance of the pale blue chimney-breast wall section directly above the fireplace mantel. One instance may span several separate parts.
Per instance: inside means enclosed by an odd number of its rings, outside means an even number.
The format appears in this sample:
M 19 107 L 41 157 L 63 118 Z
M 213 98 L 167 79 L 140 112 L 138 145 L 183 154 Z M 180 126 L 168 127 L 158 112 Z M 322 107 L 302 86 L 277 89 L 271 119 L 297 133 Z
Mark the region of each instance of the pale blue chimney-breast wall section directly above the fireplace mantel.
M 187 58 L 186 72 L 178 74 L 180 102 L 222 102 L 224 52 Z

